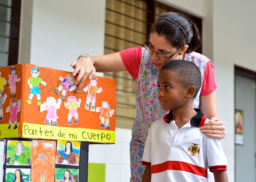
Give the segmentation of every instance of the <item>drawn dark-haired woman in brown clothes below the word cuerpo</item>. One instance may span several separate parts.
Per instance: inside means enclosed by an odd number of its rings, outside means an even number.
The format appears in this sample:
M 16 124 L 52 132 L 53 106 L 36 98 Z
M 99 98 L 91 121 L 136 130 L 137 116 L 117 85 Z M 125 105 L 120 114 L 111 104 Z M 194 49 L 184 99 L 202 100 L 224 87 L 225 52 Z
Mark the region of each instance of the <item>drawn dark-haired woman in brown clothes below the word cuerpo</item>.
M 61 164 L 76 164 L 76 155 L 73 152 L 73 146 L 71 142 L 66 142 L 65 152 L 59 158 Z

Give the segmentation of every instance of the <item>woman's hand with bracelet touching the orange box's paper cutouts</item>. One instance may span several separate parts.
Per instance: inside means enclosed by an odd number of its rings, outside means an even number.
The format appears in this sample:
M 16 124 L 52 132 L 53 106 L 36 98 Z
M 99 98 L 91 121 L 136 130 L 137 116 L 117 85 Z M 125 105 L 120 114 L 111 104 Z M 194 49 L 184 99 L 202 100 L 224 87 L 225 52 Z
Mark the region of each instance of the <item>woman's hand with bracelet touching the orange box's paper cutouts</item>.
M 84 55 L 86 54 L 82 54 L 81 56 Z M 79 73 L 74 82 L 75 85 L 79 84 L 77 87 L 77 92 L 79 92 L 82 89 L 89 75 L 89 79 L 92 79 L 95 76 L 96 69 L 93 66 L 93 64 L 94 59 L 90 59 L 89 57 L 80 57 L 77 59 L 77 61 L 71 63 L 71 66 L 75 69 L 72 73 L 73 76 L 76 76 L 76 74 Z

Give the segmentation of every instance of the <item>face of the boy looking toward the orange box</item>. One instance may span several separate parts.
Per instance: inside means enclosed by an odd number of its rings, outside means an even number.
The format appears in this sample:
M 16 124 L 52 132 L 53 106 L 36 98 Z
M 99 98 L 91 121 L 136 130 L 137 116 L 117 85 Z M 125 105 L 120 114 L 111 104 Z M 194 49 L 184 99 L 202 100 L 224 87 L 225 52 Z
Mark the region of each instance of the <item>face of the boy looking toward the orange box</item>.
M 186 89 L 183 88 L 175 71 L 161 70 L 158 75 L 158 100 L 162 108 L 173 110 L 184 105 Z

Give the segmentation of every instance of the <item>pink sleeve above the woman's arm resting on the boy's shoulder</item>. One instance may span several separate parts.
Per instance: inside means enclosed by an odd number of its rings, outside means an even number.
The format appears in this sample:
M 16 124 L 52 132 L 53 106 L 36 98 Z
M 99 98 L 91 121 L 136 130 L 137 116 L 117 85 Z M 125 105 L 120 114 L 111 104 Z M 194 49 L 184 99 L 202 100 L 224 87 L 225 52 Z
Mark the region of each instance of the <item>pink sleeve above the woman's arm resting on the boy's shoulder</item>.
M 217 84 L 214 76 L 214 66 L 211 61 L 208 61 L 205 67 L 204 80 L 200 95 L 209 95 L 217 89 Z

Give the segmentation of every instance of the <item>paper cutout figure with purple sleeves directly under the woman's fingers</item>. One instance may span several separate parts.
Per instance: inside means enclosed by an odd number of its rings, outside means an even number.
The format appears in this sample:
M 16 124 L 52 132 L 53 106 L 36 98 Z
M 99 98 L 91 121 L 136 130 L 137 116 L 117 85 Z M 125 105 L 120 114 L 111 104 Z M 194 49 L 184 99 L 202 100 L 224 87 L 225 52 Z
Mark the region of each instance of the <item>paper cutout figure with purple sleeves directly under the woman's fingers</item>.
M 59 77 L 59 80 L 62 82 L 58 88 L 54 89 L 54 92 L 56 93 L 56 95 L 58 95 L 58 93 L 60 91 L 61 92 L 61 100 L 65 100 L 65 96 L 68 92 L 68 90 L 71 92 L 73 90 L 76 89 L 76 85 L 73 86 L 74 82 L 75 82 L 75 78 L 71 73 L 68 73 L 65 78 L 63 78 L 62 76 Z

